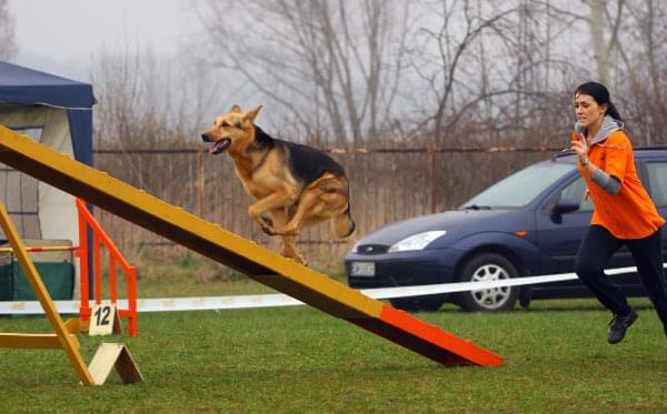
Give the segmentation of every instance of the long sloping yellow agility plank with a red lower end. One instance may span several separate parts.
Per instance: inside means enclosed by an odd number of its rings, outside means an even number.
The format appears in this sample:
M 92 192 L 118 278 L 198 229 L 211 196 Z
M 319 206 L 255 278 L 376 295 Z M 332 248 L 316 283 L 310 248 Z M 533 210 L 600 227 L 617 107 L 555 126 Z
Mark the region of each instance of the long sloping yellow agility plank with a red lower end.
M 440 364 L 502 364 L 490 351 L 1 125 L 0 162 Z

